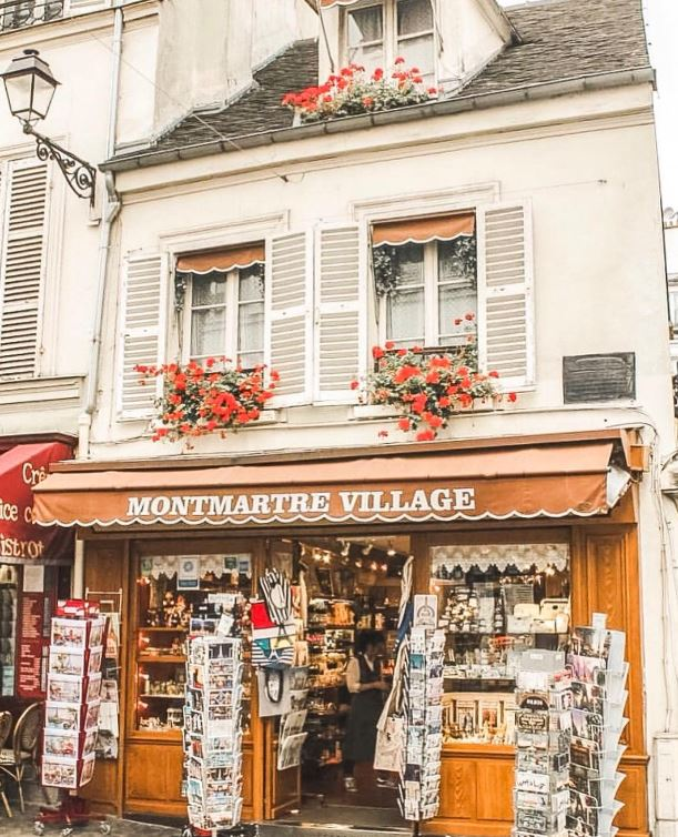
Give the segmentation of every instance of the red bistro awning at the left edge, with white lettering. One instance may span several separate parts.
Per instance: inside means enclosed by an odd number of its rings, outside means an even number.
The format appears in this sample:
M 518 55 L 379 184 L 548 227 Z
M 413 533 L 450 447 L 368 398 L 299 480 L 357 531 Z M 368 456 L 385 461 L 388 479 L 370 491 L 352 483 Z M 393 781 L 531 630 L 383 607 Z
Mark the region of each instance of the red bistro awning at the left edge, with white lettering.
M 64 564 L 72 561 L 72 533 L 33 523 L 33 488 L 53 462 L 73 456 L 62 442 L 14 445 L 0 455 L 0 562 Z

